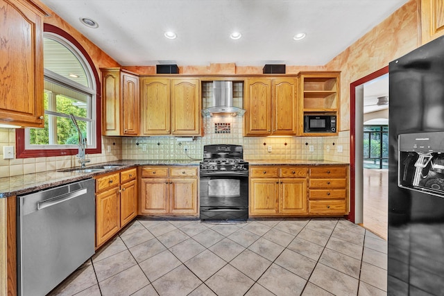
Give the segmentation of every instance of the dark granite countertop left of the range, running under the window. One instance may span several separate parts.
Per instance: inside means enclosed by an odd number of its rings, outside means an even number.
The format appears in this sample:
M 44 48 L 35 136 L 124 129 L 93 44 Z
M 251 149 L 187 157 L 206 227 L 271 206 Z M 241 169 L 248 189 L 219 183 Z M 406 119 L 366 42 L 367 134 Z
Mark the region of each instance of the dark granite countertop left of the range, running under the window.
M 13 177 L 0 178 L 0 198 L 7 198 L 12 195 L 24 195 L 43 189 L 48 189 L 79 180 L 92 178 L 96 175 L 111 173 L 133 166 L 198 166 L 199 160 L 165 160 L 165 159 L 141 159 L 141 160 L 119 160 L 116 162 L 106 162 L 102 164 L 92 164 L 90 166 L 106 165 L 106 164 L 122 164 L 115 168 L 108 168 L 103 171 L 94 173 L 78 173 L 78 172 L 61 172 L 46 171 L 42 173 L 32 173 L 26 175 L 17 175 Z

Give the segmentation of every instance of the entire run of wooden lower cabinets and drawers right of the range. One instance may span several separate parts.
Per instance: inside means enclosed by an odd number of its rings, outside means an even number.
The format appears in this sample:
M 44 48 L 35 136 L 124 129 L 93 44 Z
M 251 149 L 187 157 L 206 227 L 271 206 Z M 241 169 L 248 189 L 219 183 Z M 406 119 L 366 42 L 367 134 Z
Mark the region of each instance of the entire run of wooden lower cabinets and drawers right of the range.
M 348 214 L 348 166 L 250 166 L 249 216 Z

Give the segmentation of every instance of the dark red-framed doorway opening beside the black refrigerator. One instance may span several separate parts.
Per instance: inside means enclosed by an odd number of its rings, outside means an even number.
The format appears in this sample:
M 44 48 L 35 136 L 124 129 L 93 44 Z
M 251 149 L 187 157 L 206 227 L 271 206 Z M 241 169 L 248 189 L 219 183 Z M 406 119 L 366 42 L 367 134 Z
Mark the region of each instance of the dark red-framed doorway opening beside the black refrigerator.
M 350 84 L 349 218 L 384 239 L 388 210 L 388 101 L 388 67 Z

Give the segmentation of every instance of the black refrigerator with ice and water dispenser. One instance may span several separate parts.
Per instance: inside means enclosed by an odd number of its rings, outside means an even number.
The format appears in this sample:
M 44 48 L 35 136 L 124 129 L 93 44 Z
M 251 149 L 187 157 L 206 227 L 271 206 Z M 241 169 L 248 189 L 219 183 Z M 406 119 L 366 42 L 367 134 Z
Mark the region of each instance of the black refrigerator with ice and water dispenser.
M 444 295 L 444 37 L 389 64 L 388 295 Z

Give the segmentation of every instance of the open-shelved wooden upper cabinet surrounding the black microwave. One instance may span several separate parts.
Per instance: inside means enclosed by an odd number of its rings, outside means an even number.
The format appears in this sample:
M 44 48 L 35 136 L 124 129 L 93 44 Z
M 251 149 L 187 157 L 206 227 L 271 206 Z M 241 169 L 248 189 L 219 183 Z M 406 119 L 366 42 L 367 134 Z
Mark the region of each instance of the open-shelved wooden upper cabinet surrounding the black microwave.
M 339 130 L 339 80 L 341 73 L 301 72 L 298 130 L 302 136 L 331 136 Z M 336 116 L 334 132 L 305 132 L 305 116 Z

